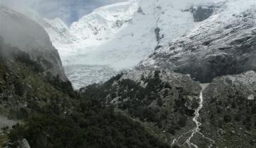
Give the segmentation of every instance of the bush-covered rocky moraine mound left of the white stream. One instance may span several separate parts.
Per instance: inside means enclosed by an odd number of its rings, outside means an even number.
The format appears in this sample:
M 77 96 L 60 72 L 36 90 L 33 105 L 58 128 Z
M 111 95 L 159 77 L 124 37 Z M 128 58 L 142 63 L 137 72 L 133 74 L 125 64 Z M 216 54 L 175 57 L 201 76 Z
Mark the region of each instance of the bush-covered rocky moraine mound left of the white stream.
M 127 71 L 102 85 L 85 87 L 80 93 L 150 124 L 157 128 L 162 140 L 171 144 L 195 126 L 192 118 L 200 90 L 199 83 L 187 75 L 147 69 Z

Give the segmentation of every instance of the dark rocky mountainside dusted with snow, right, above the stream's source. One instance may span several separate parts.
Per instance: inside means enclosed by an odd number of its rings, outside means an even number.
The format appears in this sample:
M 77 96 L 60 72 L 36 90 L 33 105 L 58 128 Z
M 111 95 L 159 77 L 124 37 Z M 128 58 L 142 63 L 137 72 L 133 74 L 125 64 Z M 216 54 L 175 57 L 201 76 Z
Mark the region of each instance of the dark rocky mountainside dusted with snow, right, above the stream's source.
M 166 68 L 200 82 L 256 70 L 256 9 L 227 13 L 225 6 L 188 35 L 157 48 L 138 68 Z

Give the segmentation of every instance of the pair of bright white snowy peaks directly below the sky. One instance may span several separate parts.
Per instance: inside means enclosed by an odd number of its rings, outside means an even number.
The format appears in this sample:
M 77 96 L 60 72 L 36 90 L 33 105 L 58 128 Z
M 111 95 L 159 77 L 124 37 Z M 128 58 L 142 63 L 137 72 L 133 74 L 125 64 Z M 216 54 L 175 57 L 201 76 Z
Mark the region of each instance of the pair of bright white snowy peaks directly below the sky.
M 58 47 L 60 53 L 66 57 L 78 54 L 74 51 L 80 49 L 87 51 L 109 41 L 131 23 L 137 10 L 138 2 L 132 0 L 97 8 L 72 23 L 70 27 L 67 27 L 59 18 L 44 19 L 42 25 L 49 32 L 54 46 Z M 64 59 L 63 61 L 66 61 L 66 58 Z

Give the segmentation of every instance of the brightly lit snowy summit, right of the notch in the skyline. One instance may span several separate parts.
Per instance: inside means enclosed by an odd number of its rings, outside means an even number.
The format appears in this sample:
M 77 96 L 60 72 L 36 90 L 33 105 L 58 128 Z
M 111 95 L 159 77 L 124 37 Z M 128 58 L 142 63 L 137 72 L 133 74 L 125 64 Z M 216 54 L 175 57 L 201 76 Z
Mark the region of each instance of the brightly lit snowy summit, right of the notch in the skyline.
M 102 40 L 111 39 L 116 32 L 130 23 L 136 11 L 138 2 L 135 0 L 103 6 L 72 23 L 70 32 L 83 42 L 97 44 Z

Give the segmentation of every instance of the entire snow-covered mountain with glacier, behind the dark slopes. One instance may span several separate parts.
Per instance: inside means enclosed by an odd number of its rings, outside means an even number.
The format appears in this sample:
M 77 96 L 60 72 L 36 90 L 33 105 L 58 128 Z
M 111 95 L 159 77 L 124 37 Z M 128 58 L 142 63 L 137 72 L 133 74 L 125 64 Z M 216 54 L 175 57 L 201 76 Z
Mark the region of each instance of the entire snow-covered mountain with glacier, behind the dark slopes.
M 156 66 L 152 57 L 157 51 L 169 49 L 176 40 L 189 39 L 195 30 L 199 36 L 205 33 L 201 38 L 206 38 L 209 30 L 219 30 L 221 21 L 231 24 L 233 13 L 252 5 L 232 5 L 242 2 L 130 0 L 97 8 L 71 27 L 60 19 L 44 19 L 44 27 L 68 68 L 68 78 L 78 88 L 95 80 L 105 81 L 119 70 L 137 66 L 142 59 L 141 65 Z

